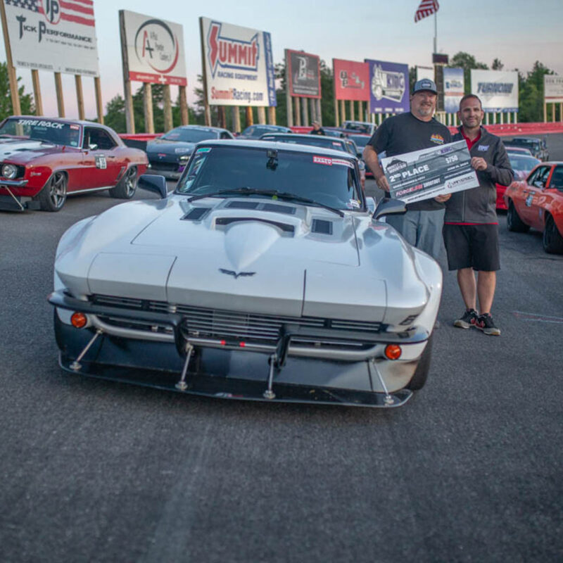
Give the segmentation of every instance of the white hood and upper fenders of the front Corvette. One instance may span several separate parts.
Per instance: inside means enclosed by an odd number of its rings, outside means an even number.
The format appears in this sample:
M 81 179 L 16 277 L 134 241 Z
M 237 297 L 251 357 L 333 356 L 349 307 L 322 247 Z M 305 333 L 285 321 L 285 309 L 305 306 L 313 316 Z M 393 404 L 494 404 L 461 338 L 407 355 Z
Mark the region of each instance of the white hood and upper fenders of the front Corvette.
M 394 234 L 358 240 L 358 229 L 369 229 L 367 214 L 358 220 L 353 213 L 339 217 L 284 203 L 295 208 L 289 215 L 237 209 L 233 201 L 250 200 L 207 198 L 192 205 L 170 196 L 118 205 L 61 239 L 56 276 L 77 296 L 99 293 L 270 315 L 383 322 L 424 308 L 429 293 L 402 239 Z M 194 208 L 206 208 L 201 220 L 190 219 Z M 331 234 L 315 232 L 315 220 L 331 222 Z M 362 262 L 366 244 L 370 258 Z M 390 277 L 388 253 L 395 256 Z M 389 305 L 400 311 L 390 315 Z

